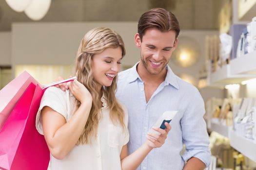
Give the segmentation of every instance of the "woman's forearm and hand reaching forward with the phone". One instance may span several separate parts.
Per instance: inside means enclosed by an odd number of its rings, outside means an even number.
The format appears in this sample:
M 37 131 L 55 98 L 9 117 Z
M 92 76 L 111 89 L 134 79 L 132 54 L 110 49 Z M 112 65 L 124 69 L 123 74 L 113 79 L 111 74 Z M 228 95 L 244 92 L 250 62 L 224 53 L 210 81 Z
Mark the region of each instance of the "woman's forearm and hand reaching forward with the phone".
M 171 125 L 169 123 L 165 122 L 164 124 L 166 126 L 165 130 L 153 128 L 155 131 L 158 131 L 160 135 L 148 133 L 147 141 L 129 156 L 127 156 L 127 145 L 123 146 L 120 154 L 122 170 L 136 170 L 152 149 L 159 148 L 164 144 L 165 139 L 171 130 Z

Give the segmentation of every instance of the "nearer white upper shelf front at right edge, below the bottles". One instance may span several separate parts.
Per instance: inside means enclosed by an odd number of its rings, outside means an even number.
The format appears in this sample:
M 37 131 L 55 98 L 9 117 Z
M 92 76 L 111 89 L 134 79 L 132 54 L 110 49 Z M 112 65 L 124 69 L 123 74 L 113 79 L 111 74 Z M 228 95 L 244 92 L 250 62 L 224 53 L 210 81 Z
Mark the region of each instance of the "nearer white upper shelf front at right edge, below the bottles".
M 230 72 L 231 74 L 255 74 L 256 77 L 256 51 L 231 60 Z

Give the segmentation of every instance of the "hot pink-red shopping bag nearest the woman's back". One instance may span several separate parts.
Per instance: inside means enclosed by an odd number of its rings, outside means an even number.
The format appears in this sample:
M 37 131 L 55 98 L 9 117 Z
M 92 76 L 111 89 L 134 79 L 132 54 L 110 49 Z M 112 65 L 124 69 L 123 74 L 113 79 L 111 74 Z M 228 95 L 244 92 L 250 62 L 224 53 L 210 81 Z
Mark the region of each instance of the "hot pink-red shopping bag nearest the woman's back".
M 0 132 L 0 169 L 47 170 L 50 152 L 36 129 L 43 90 L 31 83 Z

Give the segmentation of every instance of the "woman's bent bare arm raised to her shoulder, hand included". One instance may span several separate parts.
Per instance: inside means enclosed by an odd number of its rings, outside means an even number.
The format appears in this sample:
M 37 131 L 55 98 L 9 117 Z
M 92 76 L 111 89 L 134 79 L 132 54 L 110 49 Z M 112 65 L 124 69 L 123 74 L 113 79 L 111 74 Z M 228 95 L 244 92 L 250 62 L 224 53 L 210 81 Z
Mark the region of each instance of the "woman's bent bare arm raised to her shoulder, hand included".
M 92 96 L 84 85 L 75 80 L 69 84 L 69 89 L 81 105 L 68 122 L 48 106 L 41 111 L 44 137 L 50 152 L 57 159 L 63 159 L 76 145 L 92 106 Z

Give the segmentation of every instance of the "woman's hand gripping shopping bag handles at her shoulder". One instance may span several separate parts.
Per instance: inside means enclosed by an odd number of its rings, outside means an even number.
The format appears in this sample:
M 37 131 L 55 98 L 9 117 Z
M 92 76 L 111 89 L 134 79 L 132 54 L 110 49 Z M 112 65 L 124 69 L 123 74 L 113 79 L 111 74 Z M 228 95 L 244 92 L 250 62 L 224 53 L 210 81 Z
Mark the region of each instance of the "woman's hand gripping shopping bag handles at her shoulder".
M 83 103 L 92 103 L 93 98 L 91 93 L 88 91 L 88 89 L 81 84 L 77 79 L 75 79 L 72 82 L 67 83 L 69 90 L 72 92 L 72 94 L 75 96 L 75 98 Z

